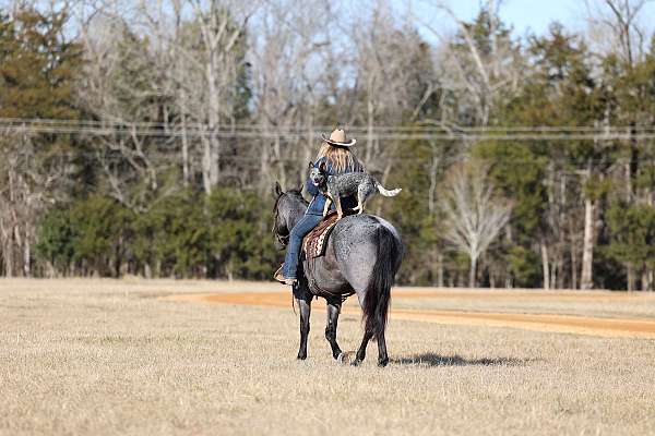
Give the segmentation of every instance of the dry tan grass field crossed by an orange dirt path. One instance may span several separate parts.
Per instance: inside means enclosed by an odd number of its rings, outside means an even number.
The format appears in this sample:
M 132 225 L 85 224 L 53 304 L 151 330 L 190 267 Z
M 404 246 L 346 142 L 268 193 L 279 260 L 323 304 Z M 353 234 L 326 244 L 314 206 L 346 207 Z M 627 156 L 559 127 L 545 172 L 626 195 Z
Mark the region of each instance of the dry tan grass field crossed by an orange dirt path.
M 282 286 L 0 280 L 0 434 L 655 434 L 655 295 L 396 289 L 383 370 L 324 317 L 296 362 Z

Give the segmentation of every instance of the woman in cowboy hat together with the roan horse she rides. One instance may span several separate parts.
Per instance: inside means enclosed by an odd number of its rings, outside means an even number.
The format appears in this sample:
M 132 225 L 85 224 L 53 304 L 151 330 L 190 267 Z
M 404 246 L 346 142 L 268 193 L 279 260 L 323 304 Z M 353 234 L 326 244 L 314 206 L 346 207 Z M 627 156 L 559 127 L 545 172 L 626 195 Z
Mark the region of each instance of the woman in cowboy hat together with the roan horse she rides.
M 323 141 L 314 164 L 317 167 L 325 161 L 332 173 L 364 170 L 349 149 L 355 140 L 346 141 L 343 130 L 332 132 L 330 138 L 323 136 Z M 367 346 L 374 339 L 378 341 L 378 365 L 384 366 L 389 362 L 384 331 L 391 287 L 404 253 L 398 232 L 389 221 L 374 215 L 344 217 L 332 228 L 324 253 L 305 258 L 302 275 L 297 276 L 302 238 L 321 221 L 325 204 L 325 197 L 311 180 L 307 182 L 307 191 L 313 195 L 309 206 L 299 191 L 283 192 L 276 183 L 273 208 L 273 232 L 277 245 L 288 245 L 284 266 L 275 278 L 294 284 L 294 298 L 300 308 L 298 359 L 307 359 L 311 302 L 315 296 L 321 296 L 327 303 L 325 339 L 332 348 L 332 356 L 346 362 L 336 341 L 336 328 L 342 303 L 347 296 L 356 294 L 362 310 L 364 337 L 352 363 L 358 365 L 364 361 Z M 344 208 L 353 208 L 356 203 L 355 198 L 344 198 L 342 202 Z

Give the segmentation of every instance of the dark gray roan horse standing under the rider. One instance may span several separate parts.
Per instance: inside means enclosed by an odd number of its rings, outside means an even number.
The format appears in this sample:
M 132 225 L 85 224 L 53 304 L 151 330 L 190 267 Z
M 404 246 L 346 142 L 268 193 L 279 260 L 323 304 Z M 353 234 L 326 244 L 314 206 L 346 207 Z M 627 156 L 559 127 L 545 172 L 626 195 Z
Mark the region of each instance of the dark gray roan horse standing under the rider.
M 273 231 L 276 245 L 282 249 L 288 242 L 289 231 L 305 215 L 307 202 L 299 191 L 283 192 L 275 184 L 276 202 Z M 352 215 L 341 219 L 332 229 L 325 255 L 302 259 L 302 271 L 298 271 L 298 284 L 294 296 L 300 307 L 300 349 L 298 359 L 307 359 L 307 335 L 311 301 L 322 296 L 327 302 L 327 326 L 325 338 L 332 347 L 332 355 L 343 359 L 336 342 L 336 325 L 342 303 L 357 294 L 364 311 L 364 339 L 357 351 L 354 365 L 366 356 L 366 347 L 371 339 L 378 341 L 378 365 L 389 363 L 384 329 L 386 313 L 394 282 L 403 258 L 403 243 L 395 228 L 382 218 L 372 215 Z M 300 274 L 301 272 L 301 274 Z

